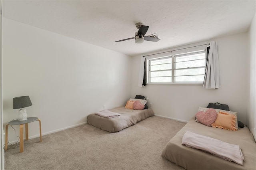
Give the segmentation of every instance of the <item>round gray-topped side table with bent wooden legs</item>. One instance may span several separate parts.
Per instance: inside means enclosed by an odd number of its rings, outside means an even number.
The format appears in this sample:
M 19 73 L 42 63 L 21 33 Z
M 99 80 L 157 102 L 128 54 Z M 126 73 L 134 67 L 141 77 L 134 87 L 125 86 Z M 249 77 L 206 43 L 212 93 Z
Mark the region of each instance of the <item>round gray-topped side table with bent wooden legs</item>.
M 23 139 L 23 127 L 25 124 L 25 130 L 26 130 L 26 140 L 28 140 L 28 123 L 38 121 L 39 122 L 39 128 L 40 128 L 40 142 L 42 142 L 42 132 L 41 132 L 41 121 L 38 119 L 38 117 L 28 117 L 28 120 L 25 121 L 10 121 L 6 127 L 5 127 L 5 147 L 4 150 L 7 150 L 8 147 L 8 126 L 9 125 L 20 125 L 20 153 L 24 151 L 24 139 Z

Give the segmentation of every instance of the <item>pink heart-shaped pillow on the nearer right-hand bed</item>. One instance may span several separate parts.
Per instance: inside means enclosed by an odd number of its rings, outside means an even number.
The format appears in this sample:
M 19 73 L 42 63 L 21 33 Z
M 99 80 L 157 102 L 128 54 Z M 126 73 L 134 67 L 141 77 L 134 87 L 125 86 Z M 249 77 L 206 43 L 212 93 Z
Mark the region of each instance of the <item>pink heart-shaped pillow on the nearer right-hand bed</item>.
M 211 126 L 212 123 L 215 122 L 217 119 L 217 112 L 215 109 L 208 109 L 206 112 L 204 111 L 199 111 L 196 113 L 196 119 L 198 122 L 206 125 L 206 126 Z

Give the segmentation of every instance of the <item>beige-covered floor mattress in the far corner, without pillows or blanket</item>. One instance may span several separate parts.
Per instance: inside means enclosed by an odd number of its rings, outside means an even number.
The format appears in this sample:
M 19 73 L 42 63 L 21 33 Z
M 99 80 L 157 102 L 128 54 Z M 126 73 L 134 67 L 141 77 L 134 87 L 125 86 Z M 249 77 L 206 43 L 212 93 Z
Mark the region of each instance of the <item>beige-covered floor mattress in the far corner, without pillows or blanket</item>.
M 152 109 L 132 110 L 125 109 L 124 107 L 116 107 L 109 109 L 109 111 L 119 113 L 120 116 L 107 119 L 93 113 L 88 115 L 87 123 L 108 132 L 119 132 L 124 128 L 135 125 L 139 121 L 154 116 Z

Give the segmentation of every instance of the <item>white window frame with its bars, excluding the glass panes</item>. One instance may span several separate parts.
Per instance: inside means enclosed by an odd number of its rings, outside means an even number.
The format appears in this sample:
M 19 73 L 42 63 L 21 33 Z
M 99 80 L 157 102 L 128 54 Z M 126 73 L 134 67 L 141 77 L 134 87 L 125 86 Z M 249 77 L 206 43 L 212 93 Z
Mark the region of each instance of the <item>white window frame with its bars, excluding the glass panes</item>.
M 196 53 L 204 53 L 204 66 L 200 66 L 200 67 L 191 67 L 190 69 L 196 69 L 196 68 L 204 68 L 204 74 L 205 74 L 205 68 L 206 68 L 206 48 L 207 47 L 201 47 L 200 49 L 186 49 L 186 50 L 181 50 L 181 51 L 170 51 L 167 53 L 160 53 L 160 54 L 156 54 L 156 55 L 152 55 L 150 57 L 146 57 L 146 82 L 147 84 L 168 84 L 168 85 L 177 85 L 177 84 L 181 84 L 181 85 L 202 85 L 203 81 L 176 81 L 175 80 L 175 71 L 176 70 L 181 70 L 181 69 L 176 69 L 176 58 L 177 57 L 181 57 L 181 56 L 186 56 L 189 54 L 196 54 Z M 156 61 L 159 59 L 164 59 L 164 58 L 172 58 L 172 69 L 167 69 L 167 71 L 172 70 L 172 81 L 171 82 L 150 82 L 150 75 L 151 72 L 150 69 L 150 63 L 151 61 Z M 189 61 L 189 60 L 188 60 Z M 182 68 L 185 69 L 185 68 Z M 202 75 L 202 74 L 200 74 Z M 184 75 L 183 75 L 184 76 Z M 190 76 L 190 75 L 188 75 Z

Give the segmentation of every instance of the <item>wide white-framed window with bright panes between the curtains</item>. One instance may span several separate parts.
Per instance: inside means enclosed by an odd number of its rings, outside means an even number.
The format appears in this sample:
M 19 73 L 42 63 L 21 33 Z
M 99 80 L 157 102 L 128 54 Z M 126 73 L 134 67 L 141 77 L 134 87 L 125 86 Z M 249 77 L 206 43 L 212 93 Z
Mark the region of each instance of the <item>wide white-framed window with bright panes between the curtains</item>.
M 203 83 L 206 51 L 192 51 L 147 61 L 147 83 Z

